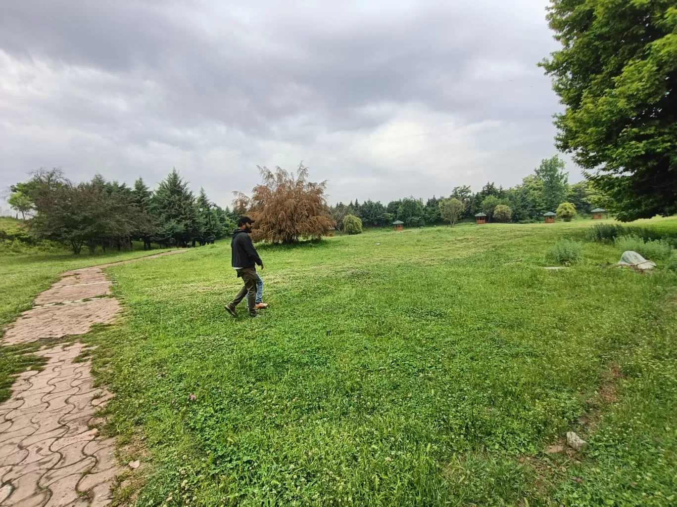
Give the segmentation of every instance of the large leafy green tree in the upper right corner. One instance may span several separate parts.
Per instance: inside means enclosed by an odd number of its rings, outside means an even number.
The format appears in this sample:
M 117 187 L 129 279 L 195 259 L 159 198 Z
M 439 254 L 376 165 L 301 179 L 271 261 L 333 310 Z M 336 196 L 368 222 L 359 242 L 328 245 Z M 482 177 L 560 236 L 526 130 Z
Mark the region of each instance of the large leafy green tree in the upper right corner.
M 562 49 L 542 62 L 566 106 L 559 149 L 620 220 L 677 212 L 675 0 L 551 0 Z

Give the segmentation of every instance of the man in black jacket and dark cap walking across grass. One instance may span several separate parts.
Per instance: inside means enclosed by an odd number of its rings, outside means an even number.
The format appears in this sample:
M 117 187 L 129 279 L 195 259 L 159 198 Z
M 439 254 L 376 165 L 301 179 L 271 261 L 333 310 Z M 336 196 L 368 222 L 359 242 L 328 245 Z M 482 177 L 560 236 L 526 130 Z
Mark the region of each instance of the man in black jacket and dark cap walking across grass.
M 256 293 L 257 280 L 259 276 L 256 272 L 258 264 L 263 269 L 263 261 L 259 257 L 249 234 L 252 231 L 254 220 L 248 216 L 240 217 L 238 228 L 233 231 L 230 240 L 231 264 L 238 273 L 238 278 L 244 282 L 244 287 L 240 289 L 235 299 L 225 306 L 225 310 L 236 317 L 235 307 L 247 296 L 247 311 L 250 317 L 256 317 Z

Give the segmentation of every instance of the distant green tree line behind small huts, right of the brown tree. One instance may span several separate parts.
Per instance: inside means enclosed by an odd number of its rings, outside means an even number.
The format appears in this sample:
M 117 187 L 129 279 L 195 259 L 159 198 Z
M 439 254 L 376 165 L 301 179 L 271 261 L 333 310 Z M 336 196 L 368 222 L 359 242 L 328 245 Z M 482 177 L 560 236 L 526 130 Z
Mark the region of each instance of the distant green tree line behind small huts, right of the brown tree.
M 588 181 L 569 185 L 564 161 L 559 156 L 544 159 L 540 166 L 509 189 L 487 183 L 479 192 L 464 185 L 454 187 L 447 197 L 430 197 L 427 201 L 405 197 L 383 205 L 372 200 L 331 207 L 337 228 L 343 230 L 346 216 L 356 216 L 364 226 L 382 227 L 395 220 L 406 226 L 435 224 L 442 220 L 452 225 L 458 220 L 484 213 L 489 221 L 529 223 L 542 220 L 544 212 L 558 212 L 571 219 L 576 213 L 589 214 L 597 207 L 608 206 L 606 195 Z M 565 205 L 565 206 L 562 206 Z M 573 213 L 573 214 L 572 214 Z

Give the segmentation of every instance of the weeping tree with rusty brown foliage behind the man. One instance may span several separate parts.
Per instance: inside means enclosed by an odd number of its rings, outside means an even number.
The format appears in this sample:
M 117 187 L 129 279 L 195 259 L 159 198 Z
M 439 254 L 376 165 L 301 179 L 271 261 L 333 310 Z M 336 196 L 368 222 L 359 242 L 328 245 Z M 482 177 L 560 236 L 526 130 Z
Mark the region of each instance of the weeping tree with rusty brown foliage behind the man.
M 299 164 L 296 175 L 276 167 L 259 167 L 262 182 L 247 197 L 234 192 L 236 210 L 255 220 L 254 241 L 295 243 L 300 238 L 320 239 L 336 222 L 327 206 L 326 181 L 308 180 L 308 168 Z

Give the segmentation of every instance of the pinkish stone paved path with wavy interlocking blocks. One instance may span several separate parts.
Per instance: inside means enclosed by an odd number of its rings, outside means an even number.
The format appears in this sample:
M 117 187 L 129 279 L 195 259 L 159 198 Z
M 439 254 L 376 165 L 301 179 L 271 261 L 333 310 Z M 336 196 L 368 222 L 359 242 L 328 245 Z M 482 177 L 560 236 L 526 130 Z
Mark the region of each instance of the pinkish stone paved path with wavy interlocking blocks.
M 62 274 L 5 333 L 4 344 L 79 335 L 91 324 L 112 322 L 121 307 L 104 297 L 110 282 L 102 268 L 114 264 Z M 82 301 L 87 298 L 100 299 Z M 89 360 L 73 362 L 85 349 L 82 343 L 42 349 L 39 354 L 48 358 L 45 369 L 18 375 L 12 396 L 0 404 L 0 506 L 98 507 L 110 502 L 112 479 L 123 468 L 113 457 L 114 439 L 96 437 L 96 426 L 105 421 L 96 413 L 112 395 L 93 386 Z

